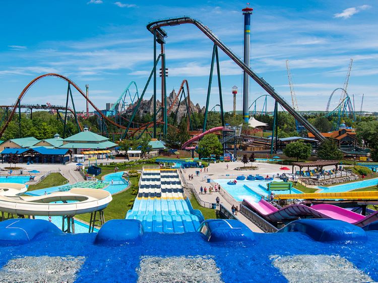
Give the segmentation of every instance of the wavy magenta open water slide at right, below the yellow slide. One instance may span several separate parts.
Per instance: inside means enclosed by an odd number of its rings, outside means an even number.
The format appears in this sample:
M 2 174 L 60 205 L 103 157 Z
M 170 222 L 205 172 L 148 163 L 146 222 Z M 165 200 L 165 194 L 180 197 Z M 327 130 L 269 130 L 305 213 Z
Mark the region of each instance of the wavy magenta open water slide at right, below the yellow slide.
M 283 209 L 277 209 L 263 199 L 261 199 L 258 203 L 250 202 L 245 199 L 244 201 L 265 219 L 272 222 L 312 216 L 314 218 L 333 218 L 362 227 L 378 220 L 378 211 L 366 217 L 358 213 L 327 204 L 314 205 L 312 207 L 307 207 L 304 205 L 291 205 Z

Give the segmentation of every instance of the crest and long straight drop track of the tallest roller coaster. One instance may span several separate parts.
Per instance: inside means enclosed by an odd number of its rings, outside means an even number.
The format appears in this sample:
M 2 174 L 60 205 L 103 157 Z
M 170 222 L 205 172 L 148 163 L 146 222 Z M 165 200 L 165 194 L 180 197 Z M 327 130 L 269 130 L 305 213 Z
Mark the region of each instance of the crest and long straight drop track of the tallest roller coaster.
M 147 25 L 147 29 L 153 34 L 156 31 L 156 36 L 158 40 L 162 40 L 167 36 L 167 33 L 162 29 L 165 26 L 177 26 L 182 24 L 193 24 L 199 28 L 211 41 L 214 42 L 228 57 L 231 58 L 242 70 L 244 70 L 251 78 L 253 78 L 262 88 L 265 89 L 283 108 L 285 108 L 297 121 L 299 121 L 309 132 L 311 132 L 320 141 L 325 140 L 325 137 L 310 123 L 307 122 L 299 113 L 297 113 L 275 90 L 274 88 L 266 82 L 262 77 L 257 75 L 252 69 L 250 69 L 243 61 L 237 57 L 226 45 L 223 44 L 213 32 L 203 25 L 198 20 L 181 17 L 172 18 L 166 20 L 160 20 L 151 22 Z

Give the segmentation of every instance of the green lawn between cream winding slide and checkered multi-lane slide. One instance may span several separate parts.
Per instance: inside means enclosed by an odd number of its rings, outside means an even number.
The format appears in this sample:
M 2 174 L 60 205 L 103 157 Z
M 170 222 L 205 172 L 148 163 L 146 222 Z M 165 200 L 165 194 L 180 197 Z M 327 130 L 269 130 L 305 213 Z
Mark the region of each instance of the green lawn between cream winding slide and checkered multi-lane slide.
M 139 179 L 137 177 L 131 177 L 130 178 L 131 184 L 138 184 Z M 131 187 L 131 186 L 130 186 Z M 131 209 L 128 204 L 130 201 L 134 200 L 136 198 L 136 195 L 132 195 L 132 190 L 130 189 L 113 195 L 113 200 L 109 203 L 106 209 L 104 209 L 104 217 L 105 221 L 111 220 L 111 219 L 124 219 L 126 216 L 126 213 L 129 209 Z M 89 223 L 91 219 L 91 214 L 80 214 L 76 215 L 75 218 L 80 219 L 82 221 L 86 221 Z

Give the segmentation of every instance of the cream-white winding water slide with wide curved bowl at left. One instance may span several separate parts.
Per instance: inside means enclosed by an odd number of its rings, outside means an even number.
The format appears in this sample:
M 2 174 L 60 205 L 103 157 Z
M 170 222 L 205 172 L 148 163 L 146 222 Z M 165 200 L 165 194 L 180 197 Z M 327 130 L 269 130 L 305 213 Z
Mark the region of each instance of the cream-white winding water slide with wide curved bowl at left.
M 104 190 L 72 188 L 44 196 L 20 196 L 27 191 L 24 184 L 0 183 L 0 211 L 35 216 L 74 216 L 102 210 L 112 197 Z M 55 203 L 62 202 L 62 203 Z

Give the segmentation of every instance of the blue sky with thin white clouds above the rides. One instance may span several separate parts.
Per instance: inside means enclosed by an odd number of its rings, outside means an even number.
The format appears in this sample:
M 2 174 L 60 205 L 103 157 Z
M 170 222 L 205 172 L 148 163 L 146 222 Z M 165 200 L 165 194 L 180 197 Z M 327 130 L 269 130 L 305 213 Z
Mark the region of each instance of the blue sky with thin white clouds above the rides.
M 242 57 L 244 1 L 20 1 L 0 2 L 0 104 L 11 105 L 36 76 L 59 73 L 85 90 L 100 109 L 117 100 L 131 81 L 142 93 L 153 66 L 153 36 L 147 23 L 190 16 L 208 26 Z M 286 71 L 289 60 L 300 111 L 325 110 L 335 88 L 343 87 L 350 59 L 347 91 L 360 110 L 378 111 L 378 1 L 255 1 L 251 24 L 250 66 L 291 102 Z M 194 25 L 166 27 L 167 91 L 187 79 L 191 100 L 205 105 L 212 42 Z M 242 71 L 221 50 L 220 75 L 225 110 L 232 110 L 231 87 L 239 87 Z M 210 108 L 219 104 L 216 71 Z M 158 90 L 159 88 L 158 80 Z M 136 92 L 131 88 L 131 92 Z M 152 96 L 152 84 L 145 98 Z M 65 105 L 67 82 L 47 77 L 37 81 L 22 103 Z M 74 91 L 77 110 L 85 100 Z M 266 94 L 250 83 L 249 104 Z M 158 97 L 160 95 L 158 94 Z M 336 91 L 330 109 L 336 108 Z M 257 102 L 261 111 L 263 100 Z M 71 105 L 71 103 L 70 103 Z M 268 98 L 268 110 L 273 109 Z M 92 110 L 92 109 L 90 109 Z

